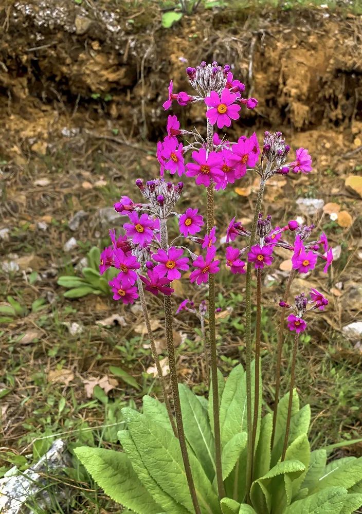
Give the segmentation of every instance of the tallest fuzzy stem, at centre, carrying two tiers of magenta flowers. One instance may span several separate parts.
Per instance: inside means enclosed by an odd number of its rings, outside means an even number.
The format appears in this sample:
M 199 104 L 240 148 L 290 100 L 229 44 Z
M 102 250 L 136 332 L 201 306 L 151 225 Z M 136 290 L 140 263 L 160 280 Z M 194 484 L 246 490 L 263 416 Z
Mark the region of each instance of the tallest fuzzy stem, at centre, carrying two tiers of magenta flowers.
M 213 150 L 213 125 L 207 120 L 207 155 Z M 207 188 L 207 232 L 210 233 L 214 224 L 214 185 L 211 182 Z M 215 464 L 216 480 L 218 482 L 219 499 L 225 497 L 223 471 L 221 465 L 221 435 L 219 415 L 219 383 L 218 383 L 218 356 L 216 352 L 215 333 L 215 276 L 209 273 L 209 334 L 210 334 L 210 365 L 212 384 L 212 410 L 214 417 L 215 437 Z

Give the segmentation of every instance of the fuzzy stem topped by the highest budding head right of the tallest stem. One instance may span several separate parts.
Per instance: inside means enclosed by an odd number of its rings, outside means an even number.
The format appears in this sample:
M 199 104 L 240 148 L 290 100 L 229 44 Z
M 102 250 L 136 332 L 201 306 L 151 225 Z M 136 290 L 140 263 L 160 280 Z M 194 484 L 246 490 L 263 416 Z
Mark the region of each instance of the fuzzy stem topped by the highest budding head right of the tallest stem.
M 263 200 L 265 180 L 260 180 L 254 219 L 252 220 L 250 247 L 255 244 L 257 221 Z M 246 410 L 247 410 L 247 454 L 246 454 L 246 499 L 250 503 L 250 487 L 252 473 L 252 416 L 251 416 L 251 262 L 246 266 L 246 295 L 245 295 L 245 345 L 246 345 Z

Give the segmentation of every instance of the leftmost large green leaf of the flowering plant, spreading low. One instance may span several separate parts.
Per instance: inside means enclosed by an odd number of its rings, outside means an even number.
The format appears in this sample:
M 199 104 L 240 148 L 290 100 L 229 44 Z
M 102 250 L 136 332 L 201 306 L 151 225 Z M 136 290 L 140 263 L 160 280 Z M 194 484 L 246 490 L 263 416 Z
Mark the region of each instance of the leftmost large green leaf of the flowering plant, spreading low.
M 162 508 L 143 487 L 125 453 L 103 448 L 76 448 L 88 473 L 117 503 L 139 514 L 157 514 Z

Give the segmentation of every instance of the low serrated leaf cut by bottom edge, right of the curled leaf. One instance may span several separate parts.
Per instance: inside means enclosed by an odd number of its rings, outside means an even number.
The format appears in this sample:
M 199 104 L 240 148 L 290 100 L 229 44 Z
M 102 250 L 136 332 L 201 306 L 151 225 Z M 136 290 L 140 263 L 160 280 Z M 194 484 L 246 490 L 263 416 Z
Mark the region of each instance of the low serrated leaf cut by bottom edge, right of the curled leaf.
M 346 489 L 331 487 L 293 502 L 284 514 L 340 514 L 346 498 Z

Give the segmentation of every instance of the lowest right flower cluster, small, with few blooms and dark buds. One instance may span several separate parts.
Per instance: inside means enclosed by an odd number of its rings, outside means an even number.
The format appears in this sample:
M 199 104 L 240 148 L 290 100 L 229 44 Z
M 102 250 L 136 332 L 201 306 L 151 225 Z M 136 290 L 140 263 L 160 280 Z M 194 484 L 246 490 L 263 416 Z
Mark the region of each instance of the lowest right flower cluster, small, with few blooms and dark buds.
M 309 294 L 310 300 L 307 299 L 303 292 L 296 296 L 294 306 L 288 305 L 285 302 L 279 302 L 280 307 L 294 310 L 295 314 L 289 314 L 287 321 L 289 330 L 295 331 L 297 334 L 304 332 L 307 327 L 303 319 L 305 314 L 315 309 L 323 310 L 324 307 L 328 305 L 327 298 L 317 289 L 312 288 Z

